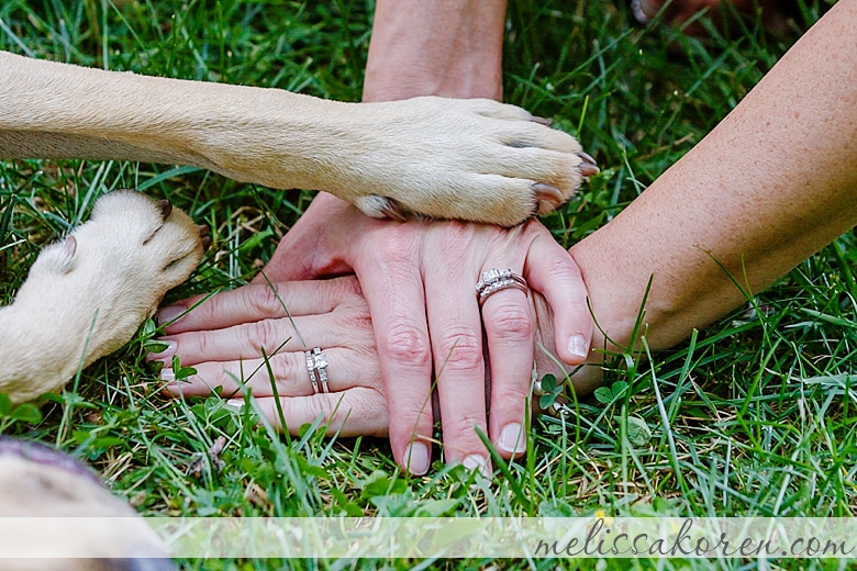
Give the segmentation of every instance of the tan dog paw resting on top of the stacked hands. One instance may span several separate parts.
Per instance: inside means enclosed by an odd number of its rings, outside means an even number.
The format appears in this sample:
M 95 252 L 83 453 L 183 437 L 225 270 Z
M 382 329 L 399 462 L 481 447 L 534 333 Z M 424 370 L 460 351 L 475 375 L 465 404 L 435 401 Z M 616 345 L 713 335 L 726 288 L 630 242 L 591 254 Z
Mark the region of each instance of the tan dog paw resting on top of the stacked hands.
M 514 226 L 599 172 L 574 137 L 513 105 L 425 97 L 365 107 L 374 124 L 354 150 L 359 180 L 342 192 L 369 216 Z

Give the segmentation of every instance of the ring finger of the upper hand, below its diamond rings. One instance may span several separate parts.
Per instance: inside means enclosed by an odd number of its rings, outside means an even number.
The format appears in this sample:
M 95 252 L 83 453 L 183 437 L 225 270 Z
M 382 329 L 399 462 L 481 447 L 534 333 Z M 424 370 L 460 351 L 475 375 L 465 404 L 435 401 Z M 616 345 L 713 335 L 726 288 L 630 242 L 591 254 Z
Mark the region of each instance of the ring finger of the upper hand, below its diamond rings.
M 525 292 L 498 291 L 482 305 L 491 377 L 489 435 L 504 458 L 526 449 L 524 433 L 534 355 L 534 317 Z

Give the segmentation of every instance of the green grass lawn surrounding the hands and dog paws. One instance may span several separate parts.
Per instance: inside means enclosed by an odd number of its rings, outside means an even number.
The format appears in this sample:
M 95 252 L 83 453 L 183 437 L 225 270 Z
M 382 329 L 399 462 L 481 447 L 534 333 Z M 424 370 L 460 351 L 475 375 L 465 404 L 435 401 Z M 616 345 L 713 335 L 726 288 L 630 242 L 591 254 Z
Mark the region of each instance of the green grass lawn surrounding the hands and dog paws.
M 624 2 L 512 1 L 507 100 L 577 134 L 602 175 L 546 219 L 570 244 L 604 224 L 692 147 L 826 3 L 801 2 L 795 31 L 747 21 L 731 40 L 636 25 Z M 0 48 L 76 64 L 278 87 L 358 100 L 371 2 L 7 0 Z M 2 80 L 2 79 L 0 79 Z M 583 113 L 586 110 L 586 113 Z M 85 220 L 94 197 L 143 187 L 211 225 L 215 246 L 170 294 L 234 288 L 269 259 L 311 197 L 166 166 L 0 161 L 0 299 L 38 248 Z M 8 215 L 12 205 L 11 219 Z M 650 360 L 615 361 L 606 390 L 538 418 L 509 475 L 471 485 L 436 462 L 394 467 L 378 439 L 285 438 L 216 398 L 157 394 L 144 336 L 80 374 L 56 402 L 9 411 L 0 432 L 58 446 L 98 469 L 146 515 L 850 516 L 857 505 L 857 239 L 848 234 L 753 303 Z M 219 437 L 225 467 L 188 466 Z M 412 561 L 340 562 L 407 569 Z M 327 561 L 188 561 L 189 569 L 327 568 Z M 574 562 L 444 561 L 554 569 Z M 588 564 L 588 563 L 585 563 Z M 609 561 L 606 568 L 626 562 Z M 755 567 L 753 561 L 717 563 Z M 781 561 L 775 566 L 835 567 Z M 700 561 L 634 567 L 710 568 Z

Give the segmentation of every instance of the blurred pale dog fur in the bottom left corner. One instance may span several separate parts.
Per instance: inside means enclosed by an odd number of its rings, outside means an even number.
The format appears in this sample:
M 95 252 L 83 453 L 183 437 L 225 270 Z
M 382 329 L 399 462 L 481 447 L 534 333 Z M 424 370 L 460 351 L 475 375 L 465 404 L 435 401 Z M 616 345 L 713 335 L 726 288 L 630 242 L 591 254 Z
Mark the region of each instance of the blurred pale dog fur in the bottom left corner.
M 62 452 L 0 437 L 0 571 L 175 570 L 136 512 Z

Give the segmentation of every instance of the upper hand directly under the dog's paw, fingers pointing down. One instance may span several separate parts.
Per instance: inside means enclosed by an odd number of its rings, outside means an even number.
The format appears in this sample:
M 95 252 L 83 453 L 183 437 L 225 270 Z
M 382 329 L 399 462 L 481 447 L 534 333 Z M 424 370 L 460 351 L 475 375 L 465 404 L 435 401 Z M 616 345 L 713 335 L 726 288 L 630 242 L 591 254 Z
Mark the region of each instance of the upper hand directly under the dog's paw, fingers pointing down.
M 491 268 L 523 276 L 554 307 L 561 361 L 578 365 L 587 358 L 593 325 L 582 277 L 536 221 L 508 231 L 454 222 L 399 224 L 368 219 L 320 194 L 264 273 L 278 282 L 356 272 L 376 333 L 393 456 L 420 474 L 431 459 L 433 370 L 446 461 L 487 463 L 477 429 L 507 458 L 524 450 L 521 427 L 533 368 L 534 315 L 527 296 L 509 289 L 489 298 L 480 317 L 475 284 Z M 482 322 L 491 370 L 489 403 Z

